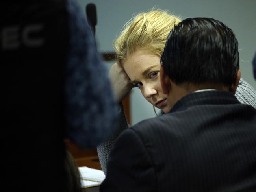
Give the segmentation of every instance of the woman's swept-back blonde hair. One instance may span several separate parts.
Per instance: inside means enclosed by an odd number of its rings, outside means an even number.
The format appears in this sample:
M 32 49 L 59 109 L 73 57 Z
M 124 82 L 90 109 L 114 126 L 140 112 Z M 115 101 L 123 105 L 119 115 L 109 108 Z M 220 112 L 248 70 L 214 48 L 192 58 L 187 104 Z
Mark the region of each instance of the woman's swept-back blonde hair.
M 180 21 L 177 16 L 159 9 L 139 13 L 124 25 L 114 42 L 117 62 L 122 65 L 129 54 L 139 49 L 161 57 L 167 36 Z

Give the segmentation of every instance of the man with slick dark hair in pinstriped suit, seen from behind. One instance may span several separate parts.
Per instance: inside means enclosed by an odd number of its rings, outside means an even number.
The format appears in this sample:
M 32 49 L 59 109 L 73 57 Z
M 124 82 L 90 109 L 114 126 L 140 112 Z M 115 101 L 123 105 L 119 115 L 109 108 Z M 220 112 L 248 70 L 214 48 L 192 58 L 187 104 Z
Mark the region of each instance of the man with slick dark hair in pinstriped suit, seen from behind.
M 256 109 L 234 96 L 233 31 L 211 18 L 182 21 L 160 78 L 171 111 L 121 133 L 101 191 L 256 191 Z

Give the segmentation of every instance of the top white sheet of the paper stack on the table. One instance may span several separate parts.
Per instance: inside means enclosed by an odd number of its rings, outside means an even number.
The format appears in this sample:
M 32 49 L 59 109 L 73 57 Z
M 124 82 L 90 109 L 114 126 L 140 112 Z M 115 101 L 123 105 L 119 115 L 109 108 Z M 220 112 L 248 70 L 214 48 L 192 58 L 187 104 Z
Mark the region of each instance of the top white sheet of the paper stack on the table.
M 89 167 L 78 167 L 78 169 L 83 180 L 101 183 L 105 179 L 105 174 L 102 170 Z

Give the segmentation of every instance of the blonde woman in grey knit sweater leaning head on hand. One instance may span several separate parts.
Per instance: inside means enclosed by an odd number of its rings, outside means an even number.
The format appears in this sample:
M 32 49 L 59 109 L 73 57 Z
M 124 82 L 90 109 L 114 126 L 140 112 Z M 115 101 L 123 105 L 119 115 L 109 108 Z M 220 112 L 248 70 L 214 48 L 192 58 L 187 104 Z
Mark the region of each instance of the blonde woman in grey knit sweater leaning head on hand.
M 169 32 L 179 22 L 179 17 L 167 11 L 153 10 L 139 13 L 124 26 L 121 35 L 114 42 L 117 63 L 109 72 L 118 103 L 121 103 L 133 87 L 138 87 L 148 102 L 161 109 L 161 114 L 169 112 L 166 96 L 160 85 L 160 57 Z M 243 79 L 239 81 L 236 97 L 241 103 L 256 108 L 255 90 Z M 105 174 L 115 139 L 128 128 L 122 106 L 118 123 L 119 129 L 116 133 L 97 148 Z

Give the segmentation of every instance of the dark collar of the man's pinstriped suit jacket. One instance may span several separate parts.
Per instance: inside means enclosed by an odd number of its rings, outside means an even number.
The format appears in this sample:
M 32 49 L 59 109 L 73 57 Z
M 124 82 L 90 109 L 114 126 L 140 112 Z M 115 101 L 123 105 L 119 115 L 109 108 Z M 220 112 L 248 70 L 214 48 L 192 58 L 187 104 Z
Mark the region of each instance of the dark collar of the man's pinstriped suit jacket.
M 227 105 L 239 104 L 237 98 L 228 91 L 204 91 L 193 92 L 181 98 L 169 111 L 169 113 L 180 111 L 195 105 Z

